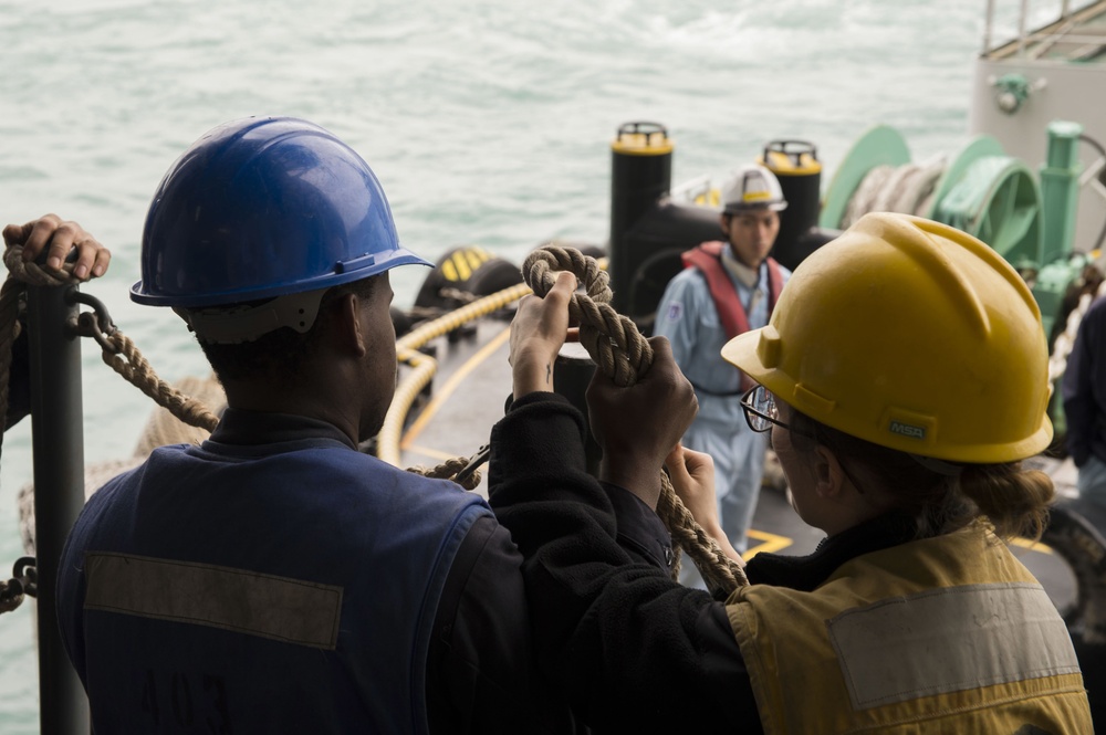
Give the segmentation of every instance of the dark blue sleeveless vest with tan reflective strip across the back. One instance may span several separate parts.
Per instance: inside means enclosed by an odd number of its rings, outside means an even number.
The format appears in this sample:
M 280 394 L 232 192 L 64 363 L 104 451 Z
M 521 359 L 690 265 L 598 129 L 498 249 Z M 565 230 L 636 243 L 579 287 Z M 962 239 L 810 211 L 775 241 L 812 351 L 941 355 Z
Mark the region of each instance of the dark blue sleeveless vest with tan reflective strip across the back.
M 425 733 L 438 600 L 490 514 L 328 439 L 156 450 L 62 559 L 95 732 Z

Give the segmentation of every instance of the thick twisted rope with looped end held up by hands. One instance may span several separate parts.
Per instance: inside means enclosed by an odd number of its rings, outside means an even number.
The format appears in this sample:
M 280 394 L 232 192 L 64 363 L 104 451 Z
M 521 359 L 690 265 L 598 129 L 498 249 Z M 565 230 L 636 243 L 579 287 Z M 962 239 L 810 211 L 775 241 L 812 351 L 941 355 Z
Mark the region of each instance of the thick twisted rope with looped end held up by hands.
M 580 342 L 587 354 L 615 385 L 636 384 L 653 365 L 653 347 L 637 325 L 608 303 L 612 294 L 606 272 L 578 250 L 545 245 L 526 258 L 522 277 L 535 294 L 544 296 L 556 281 L 555 271 L 572 271 L 583 285 L 584 293 L 574 293 L 568 302 L 568 317 L 580 324 Z M 671 533 L 677 550 L 682 548 L 695 561 L 708 589 L 732 592 L 749 584 L 741 565 L 726 556 L 696 523 L 666 473 L 661 473 L 657 515 Z M 674 577 L 678 571 L 677 566 Z

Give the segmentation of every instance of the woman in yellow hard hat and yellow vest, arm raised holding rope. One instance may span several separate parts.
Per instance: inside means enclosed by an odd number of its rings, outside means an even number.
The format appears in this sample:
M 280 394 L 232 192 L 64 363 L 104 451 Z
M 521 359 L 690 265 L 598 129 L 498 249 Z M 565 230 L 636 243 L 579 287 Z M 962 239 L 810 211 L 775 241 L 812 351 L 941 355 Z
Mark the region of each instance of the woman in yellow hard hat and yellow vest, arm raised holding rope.
M 571 410 L 542 392 L 571 285 L 515 317 L 491 498 L 528 559 L 543 665 L 587 724 L 1093 732 L 1064 621 L 1001 540 L 1040 535 L 1054 491 L 1019 463 L 1052 439 L 1040 312 L 993 250 L 868 214 L 794 271 L 768 326 L 727 344 L 758 384 L 750 427 L 771 431 L 796 512 L 827 536 L 807 557 L 758 555 L 752 584 L 724 601 L 680 588 L 625 539 L 634 510 L 620 495 L 655 508 L 667 455 L 677 492 L 727 546 L 709 458 L 669 454 L 695 410 L 662 339 L 638 384 L 601 376 L 589 389 L 605 483 L 573 469 Z

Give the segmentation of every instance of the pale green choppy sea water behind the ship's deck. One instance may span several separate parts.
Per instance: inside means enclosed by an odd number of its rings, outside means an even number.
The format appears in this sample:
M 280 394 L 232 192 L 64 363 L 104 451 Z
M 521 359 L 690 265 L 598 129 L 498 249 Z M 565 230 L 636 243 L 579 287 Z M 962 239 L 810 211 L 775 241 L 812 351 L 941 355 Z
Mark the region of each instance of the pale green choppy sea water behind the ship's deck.
M 1012 32 L 1016 3 L 998 4 Z M 408 248 L 435 260 L 477 243 L 521 263 L 549 239 L 604 244 L 626 122 L 668 128 L 676 182 L 719 181 L 797 138 L 825 187 L 876 124 L 915 160 L 953 154 L 982 29 L 983 2 L 961 0 L 0 0 L 0 223 L 80 221 L 113 252 L 83 290 L 163 378 L 205 376 L 180 322 L 127 292 L 150 195 L 219 123 L 315 122 L 374 168 Z M 424 276 L 393 272 L 397 305 Z M 83 355 L 85 461 L 125 458 L 153 403 L 93 343 Z M 3 438 L 2 577 L 23 554 L 30 480 L 28 420 Z M 0 617 L 3 735 L 39 732 L 33 609 Z

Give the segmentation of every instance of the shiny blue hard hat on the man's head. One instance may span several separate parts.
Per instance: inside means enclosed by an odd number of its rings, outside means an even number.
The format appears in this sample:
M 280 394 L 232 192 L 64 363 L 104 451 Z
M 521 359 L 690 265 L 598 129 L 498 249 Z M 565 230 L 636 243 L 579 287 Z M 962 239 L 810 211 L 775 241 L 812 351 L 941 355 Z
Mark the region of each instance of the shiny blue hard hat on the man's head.
M 399 245 L 368 164 L 293 117 L 220 125 L 169 168 L 142 240 L 140 304 L 195 308 L 322 290 L 396 265 Z

